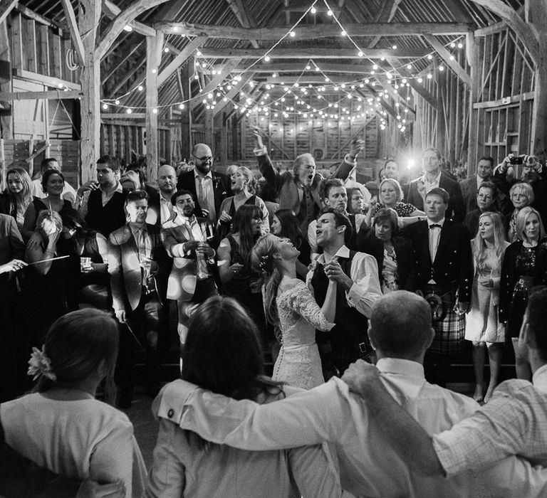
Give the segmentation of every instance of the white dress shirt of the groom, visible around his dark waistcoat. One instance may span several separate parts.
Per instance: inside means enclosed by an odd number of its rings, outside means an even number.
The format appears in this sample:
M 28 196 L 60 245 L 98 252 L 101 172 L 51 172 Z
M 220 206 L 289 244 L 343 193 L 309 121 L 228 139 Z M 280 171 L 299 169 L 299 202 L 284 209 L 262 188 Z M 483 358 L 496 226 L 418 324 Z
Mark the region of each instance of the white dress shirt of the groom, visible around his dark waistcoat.
M 335 256 L 349 258 L 350 250 L 343 245 L 336 251 Z M 325 263 L 328 263 L 325 262 L 325 255 L 321 254 L 314 264 L 324 265 Z M 355 253 L 351 262 L 350 273 L 349 277 L 353 280 L 353 285 L 349 292 L 345 293 L 348 304 L 357 309 L 360 314 L 370 318 L 370 312 L 375 302 L 382 297 L 380 280 L 378 280 L 378 264 L 370 254 Z M 313 277 L 313 269 L 306 275 L 306 285 L 308 285 L 308 289 L 313 295 L 311 277 Z

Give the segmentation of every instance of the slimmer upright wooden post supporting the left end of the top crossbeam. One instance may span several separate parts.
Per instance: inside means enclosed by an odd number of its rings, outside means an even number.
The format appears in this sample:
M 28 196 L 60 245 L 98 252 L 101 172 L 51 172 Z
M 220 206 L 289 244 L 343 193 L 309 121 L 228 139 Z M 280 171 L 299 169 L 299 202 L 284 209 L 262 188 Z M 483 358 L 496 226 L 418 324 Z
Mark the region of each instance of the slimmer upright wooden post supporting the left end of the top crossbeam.
M 146 164 L 148 178 L 157 179 L 160 144 L 157 134 L 157 71 L 162 60 L 163 33 L 146 37 Z M 155 111 L 155 112 L 154 112 Z

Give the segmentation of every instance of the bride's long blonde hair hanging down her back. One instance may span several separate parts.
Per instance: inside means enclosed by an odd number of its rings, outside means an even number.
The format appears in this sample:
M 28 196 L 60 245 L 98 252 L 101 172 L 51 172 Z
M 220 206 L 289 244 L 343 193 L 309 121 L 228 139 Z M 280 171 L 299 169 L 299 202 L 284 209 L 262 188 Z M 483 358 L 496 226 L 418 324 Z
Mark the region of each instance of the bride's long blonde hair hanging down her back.
M 279 238 L 271 233 L 266 233 L 251 250 L 251 266 L 254 271 L 260 272 L 264 278 L 264 307 L 266 318 L 272 325 L 279 324 L 277 314 L 276 297 L 277 289 L 281 283 L 281 270 L 273 257 L 278 251 Z

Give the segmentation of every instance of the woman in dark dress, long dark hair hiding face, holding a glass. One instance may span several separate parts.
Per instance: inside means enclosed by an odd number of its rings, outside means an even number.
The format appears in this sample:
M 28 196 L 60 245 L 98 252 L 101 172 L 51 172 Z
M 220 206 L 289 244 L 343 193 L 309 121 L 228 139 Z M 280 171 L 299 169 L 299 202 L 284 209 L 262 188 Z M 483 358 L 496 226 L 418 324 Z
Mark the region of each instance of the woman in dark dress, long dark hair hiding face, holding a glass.
M 91 230 L 73 208 L 61 211 L 63 231 L 58 245 L 70 255 L 73 298 L 80 307 L 109 309 L 108 243 L 104 235 Z M 87 258 L 83 260 L 82 258 Z

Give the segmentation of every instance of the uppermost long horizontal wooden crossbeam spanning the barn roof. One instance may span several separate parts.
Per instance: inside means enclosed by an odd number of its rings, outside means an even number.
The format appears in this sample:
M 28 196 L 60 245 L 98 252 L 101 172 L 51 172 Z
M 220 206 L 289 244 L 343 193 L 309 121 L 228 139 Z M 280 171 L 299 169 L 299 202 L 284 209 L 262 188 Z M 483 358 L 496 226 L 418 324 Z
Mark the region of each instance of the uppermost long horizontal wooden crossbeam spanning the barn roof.
M 139 0 L 145 1 L 145 0 Z M 148 0 L 150 2 L 165 0 Z M 125 25 L 124 25 L 125 26 Z M 210 24 L 191 24 L 162 22 L 155 23 L 155 28 L 165 33 L 176 33 L 187 36 L 209 36 L 209 38 L 226 38 L 228 40 L 264 40 L 278 41 L 292 26 L 270 28 L 236 28 L 234 26 L 215 26 Z M 469 23 L 367 23 L 347 24 L 345 31 L 350 36 L 406 36 L 406 35 L 459 35 L 472 28 Z M 298 40 L 313 38 L 330 38 L 340 36 L 340 28 L 334 24 L 301 24 L 294 28 Z

